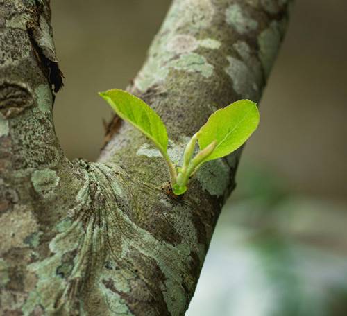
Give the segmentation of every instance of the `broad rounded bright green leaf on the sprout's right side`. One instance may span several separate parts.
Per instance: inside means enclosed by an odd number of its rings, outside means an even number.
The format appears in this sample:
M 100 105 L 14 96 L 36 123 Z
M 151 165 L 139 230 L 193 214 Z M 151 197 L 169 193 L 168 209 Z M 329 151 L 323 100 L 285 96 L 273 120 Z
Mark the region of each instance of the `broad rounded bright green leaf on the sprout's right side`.
M 198 133 L 201 150 L 217 141 L 213 152 L 204 160 L 229 155 L 251 136 L 259 124 L 257 105 L 251 100 L 239 100 L 214 112 Z

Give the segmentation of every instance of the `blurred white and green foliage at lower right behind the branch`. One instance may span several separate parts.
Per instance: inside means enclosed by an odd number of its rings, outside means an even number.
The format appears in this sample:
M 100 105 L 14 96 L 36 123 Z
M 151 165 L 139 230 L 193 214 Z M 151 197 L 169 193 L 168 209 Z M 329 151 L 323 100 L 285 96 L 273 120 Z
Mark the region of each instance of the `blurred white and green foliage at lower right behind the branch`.
M 346 315 L 346 205 L 290 195 L 271 173 L 245 170 L 186 315 Z

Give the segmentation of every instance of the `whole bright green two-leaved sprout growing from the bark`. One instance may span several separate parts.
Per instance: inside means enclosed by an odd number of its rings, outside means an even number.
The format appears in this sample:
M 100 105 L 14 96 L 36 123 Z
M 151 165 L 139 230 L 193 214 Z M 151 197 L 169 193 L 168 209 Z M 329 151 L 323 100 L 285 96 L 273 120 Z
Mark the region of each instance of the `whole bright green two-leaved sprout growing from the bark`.
M 128 121 L 153 141 L 167 162 L 171 188 L 176 195 L 187 191 L 189 179 L 202 164 L 229 155 L 242 146 L 257 129 L 260 120 L 257 105 L 251 100 L 238 100 L 217 110 L 189 140 L 183 153 L 183 164 L 178 167 L 167 154 L 167 128 L 149 105 L 121 89 L 111 89 L 99 95 L 121 119 Z M 196 143 L 200 150 L 194 156 Z

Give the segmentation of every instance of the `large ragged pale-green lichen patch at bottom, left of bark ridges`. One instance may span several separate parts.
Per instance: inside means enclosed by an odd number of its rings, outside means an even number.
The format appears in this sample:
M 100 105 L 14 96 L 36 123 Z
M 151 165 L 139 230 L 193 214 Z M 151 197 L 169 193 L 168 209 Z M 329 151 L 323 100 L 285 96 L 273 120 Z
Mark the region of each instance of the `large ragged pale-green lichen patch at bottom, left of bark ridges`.
M 28 271 L 35 274 L 37 282 L 22 308 L 24 315 L 31 315 L 37 306 L 42 306 L 47 315 L 53 315 L 59 308 L 71 312 L 71 304 L 78 295 L 74 287 L 78 288 L 81 278 L 85 277 L 86 249 L 90 247 L 90 243 L 85 243 L 90 235 L 81 226 L 81 222 L 76 221 L 57 234 L 49 243 L 53 255 L 28 265 Z M 77 252 L 78 245 L 81 248 Z M 66 310 L 62 313 L 66 314 Z

